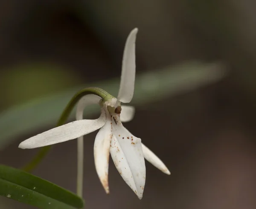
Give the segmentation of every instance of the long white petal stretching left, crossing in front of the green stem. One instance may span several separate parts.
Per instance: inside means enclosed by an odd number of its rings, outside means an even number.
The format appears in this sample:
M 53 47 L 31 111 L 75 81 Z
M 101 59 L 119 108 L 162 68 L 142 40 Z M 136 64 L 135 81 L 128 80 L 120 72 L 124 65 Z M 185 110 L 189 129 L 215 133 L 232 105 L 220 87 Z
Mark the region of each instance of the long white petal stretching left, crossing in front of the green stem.
M 89 134 L 101 128 L 106 122 L 105 111 L 102 110 L 101 116 L 95 120 L 77 120 L 74 122 L 52 128 L 49 131 L 33 136 L 21 142 L 19 148 L 32 149 L 53 145 L 76 139 L 79 136 Z

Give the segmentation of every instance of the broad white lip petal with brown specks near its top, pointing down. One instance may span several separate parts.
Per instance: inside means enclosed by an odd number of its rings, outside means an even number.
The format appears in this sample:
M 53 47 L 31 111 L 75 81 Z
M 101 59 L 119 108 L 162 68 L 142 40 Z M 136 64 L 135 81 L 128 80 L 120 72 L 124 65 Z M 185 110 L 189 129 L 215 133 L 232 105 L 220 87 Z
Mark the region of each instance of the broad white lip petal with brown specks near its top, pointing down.
M 111 157 L 123 180 L 141 199 L 146 177 L 141 139 L 125 129 L 119 118 L 115 117 L 115 119 L 113 117 L 112 120 L 114 135 L 111 139 Z

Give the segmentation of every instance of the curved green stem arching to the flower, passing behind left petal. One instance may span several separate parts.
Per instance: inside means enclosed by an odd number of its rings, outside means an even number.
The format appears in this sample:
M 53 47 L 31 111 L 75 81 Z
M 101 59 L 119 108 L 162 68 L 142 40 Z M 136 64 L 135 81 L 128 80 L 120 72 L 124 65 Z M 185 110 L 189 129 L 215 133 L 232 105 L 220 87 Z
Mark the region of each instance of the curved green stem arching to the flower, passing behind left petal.
M 66 108 L 64 109 L 64 111 L 61 114 L 61 117 L 58 120 L 56 127 L 64 125 L 66 123 L 66 121 L 67 121 L 68 117 L 70 116 L 70 113 L 73 110 L 73 108 L 75 107 L 76 103 L 83 96 L 85 96 L 87 94 L 94 94 L 94 95 L 100 96 L 102 98 L 103 102 L 106 102 L 106 101 L 114 98 L 106 91 L 104 91 L 100 88 L 97 88 L 97 87 L 89 87 L 89 88 L 82 89 L 78 93 L 76 93 L 76 95 L 73 96 L 73 98 L 67 104 Z M 41 148 L 40 151 L 38 152 L 38 154 L 28 164 L 26 164 L 23 167 L 23 171 L 31 172 L 44 159 L 46 154 L 50 151 L 50 148 L 51 148 L 50 145 Z

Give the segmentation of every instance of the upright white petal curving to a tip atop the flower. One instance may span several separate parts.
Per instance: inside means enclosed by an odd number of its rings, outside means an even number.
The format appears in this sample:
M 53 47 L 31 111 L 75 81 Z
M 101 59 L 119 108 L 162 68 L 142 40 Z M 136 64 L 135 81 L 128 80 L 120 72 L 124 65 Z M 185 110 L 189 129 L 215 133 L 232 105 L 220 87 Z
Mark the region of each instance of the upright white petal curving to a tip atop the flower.
M 125 43 L 122 60 L 122 74 L 118 93 L 118 101 L 129 103 L 134 94 L 135 82 L 135 41 L 138 29 L 133 29 Z

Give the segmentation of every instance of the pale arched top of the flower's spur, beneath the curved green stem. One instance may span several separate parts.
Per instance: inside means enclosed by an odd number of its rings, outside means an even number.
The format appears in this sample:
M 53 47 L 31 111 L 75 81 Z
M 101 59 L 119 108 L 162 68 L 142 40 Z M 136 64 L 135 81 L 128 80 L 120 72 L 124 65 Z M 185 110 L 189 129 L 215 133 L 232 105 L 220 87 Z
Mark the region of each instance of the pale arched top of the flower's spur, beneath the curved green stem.
M 94 94 L 88 94 L 83 96 L 76 107 L 76 120 L 82 120 L 83 114 L 84 114 L 84 108 L 90 104 L 99 104 L 99 100 L 101 97 L 94 95 Z

